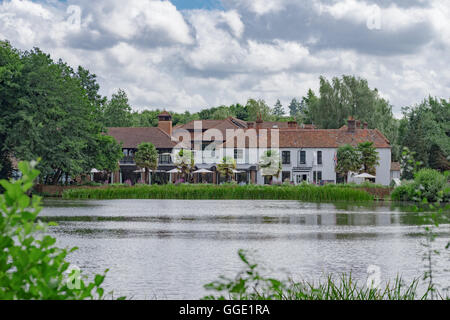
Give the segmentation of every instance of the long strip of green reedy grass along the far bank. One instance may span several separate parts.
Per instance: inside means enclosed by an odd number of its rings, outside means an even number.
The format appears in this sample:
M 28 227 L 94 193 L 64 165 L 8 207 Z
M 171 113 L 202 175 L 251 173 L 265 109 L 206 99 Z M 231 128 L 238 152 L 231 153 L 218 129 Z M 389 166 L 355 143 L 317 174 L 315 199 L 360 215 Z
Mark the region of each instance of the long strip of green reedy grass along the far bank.
M 191 199 L 191 200 L 300 200 L 371 201 L 367 192 L 339 185 L 140 185 L 102 189 L 72 189 L 64 199 Z

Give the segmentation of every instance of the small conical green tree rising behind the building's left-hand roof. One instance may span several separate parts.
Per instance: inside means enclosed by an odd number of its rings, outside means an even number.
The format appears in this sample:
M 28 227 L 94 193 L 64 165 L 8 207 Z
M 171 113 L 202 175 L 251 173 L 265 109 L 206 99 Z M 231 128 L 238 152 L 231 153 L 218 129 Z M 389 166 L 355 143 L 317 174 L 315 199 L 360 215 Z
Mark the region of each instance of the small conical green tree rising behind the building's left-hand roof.
M 103 110 L 105 127 L 130 127 L 133 124 L 128 96 L 122 89 L 112 95 Z

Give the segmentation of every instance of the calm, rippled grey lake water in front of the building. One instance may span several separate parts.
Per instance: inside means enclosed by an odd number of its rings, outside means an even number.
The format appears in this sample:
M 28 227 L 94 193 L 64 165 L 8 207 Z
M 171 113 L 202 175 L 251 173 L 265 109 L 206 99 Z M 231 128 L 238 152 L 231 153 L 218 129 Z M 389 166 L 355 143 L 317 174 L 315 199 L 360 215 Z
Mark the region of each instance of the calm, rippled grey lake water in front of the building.
M 44 216 L 60 246 L 77 246 L 69 260 L 87 275 L 109 268 L 115 295 L 136 299 L 199 299 L 203 285 L 242 270 L 238 249 L 266 272 L 317 280 L 367 268 L 387 280 L 411 280 L 425 271 L 418 214 L 387 205 L 357 206 L 297 201 L 46 200 Z M 436 248 L 450 241 L 443 225 Z M 442 250 L 435 276 L 450 286 L 449 254 Z

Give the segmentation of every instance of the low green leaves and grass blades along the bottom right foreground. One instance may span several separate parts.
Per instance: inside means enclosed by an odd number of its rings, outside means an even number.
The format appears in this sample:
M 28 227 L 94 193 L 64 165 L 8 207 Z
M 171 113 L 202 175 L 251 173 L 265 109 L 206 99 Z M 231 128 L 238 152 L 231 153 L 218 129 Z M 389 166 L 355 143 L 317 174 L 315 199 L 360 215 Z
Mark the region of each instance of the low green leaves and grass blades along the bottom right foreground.
M 205 300 L 416 300 L 429 298 L 430 288 L 422 294 L 417 289 L 418 280 L 405 285 L 400 277 L 393 284 L 375 289 L 360 286 L 352 275 L 342 274 L 335 280 L 328 276 L 326 281 L 314 283 L 295 282 L 292 279 L 266 277 L 258 264 L 251 262 L 247 252 L 239 250 L 239 258 L 245 269 L 234 279 L 221 276 L 219 280 L 205 285 L 205 289 L 218 295 L 209 295 Z

